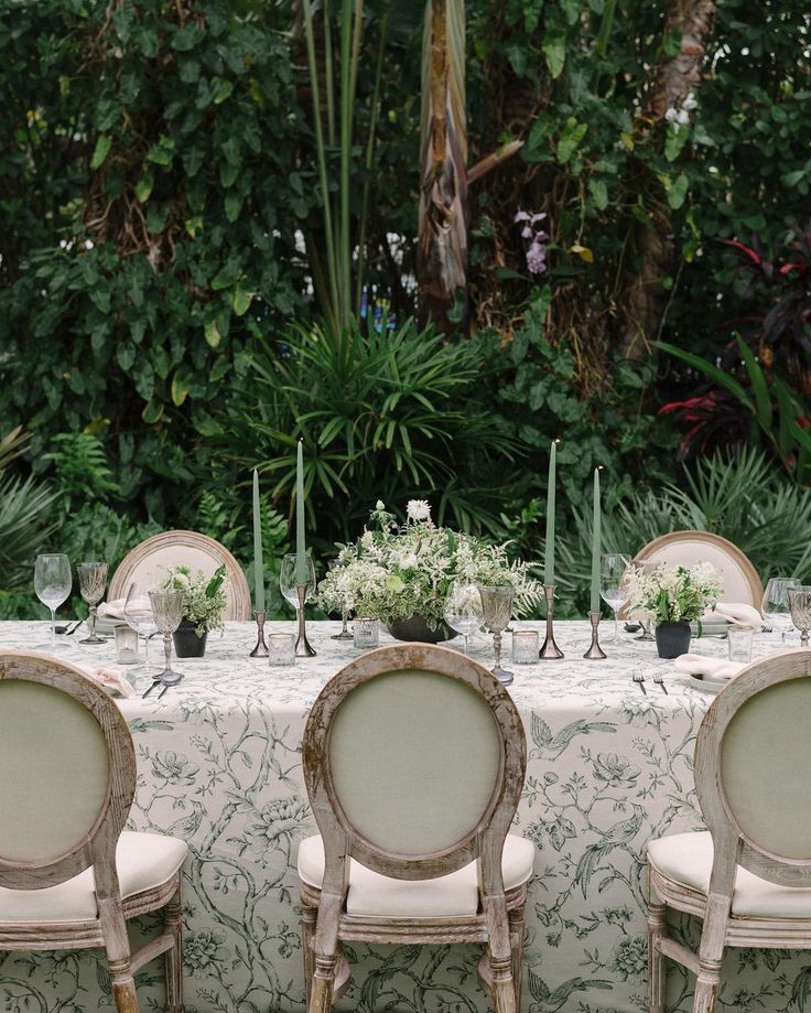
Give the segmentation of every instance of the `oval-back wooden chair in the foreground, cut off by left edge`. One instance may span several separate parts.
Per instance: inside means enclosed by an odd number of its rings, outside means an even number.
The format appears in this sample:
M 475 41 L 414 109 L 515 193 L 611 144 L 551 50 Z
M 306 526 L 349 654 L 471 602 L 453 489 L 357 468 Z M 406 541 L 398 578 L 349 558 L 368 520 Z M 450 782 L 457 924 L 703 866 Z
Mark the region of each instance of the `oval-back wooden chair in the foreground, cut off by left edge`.
M 137 1013 L 133 974 L 165 953 L 167 1010 L 182 1013 L 187 848 L 123 831 L 134 790 L 112 699 L 65 661 L 0 653 L 0 950 L 104 947 L 119 1013 Z M 132 953 L 127 919 L 156 910 L 163 933 Z

